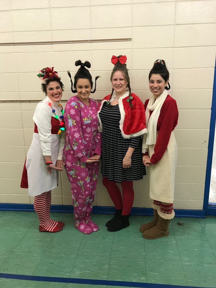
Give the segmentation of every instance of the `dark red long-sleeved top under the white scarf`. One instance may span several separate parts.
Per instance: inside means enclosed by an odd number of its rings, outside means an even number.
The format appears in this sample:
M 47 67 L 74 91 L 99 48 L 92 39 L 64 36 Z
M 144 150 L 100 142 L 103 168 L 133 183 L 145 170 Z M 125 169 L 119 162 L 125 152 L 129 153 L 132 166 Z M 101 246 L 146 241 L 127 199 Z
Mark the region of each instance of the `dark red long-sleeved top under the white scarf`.
M 149 99 L 145 102 L 145 110 L 149 103 Z M 153 111 L 150 111 L 150 116 Z M 161 112 L 158 117 L 157 131 L 158 137 L 154 147 L 154 153 L 151 156 L 151 163 L 156 164 L 163 157 L 164 152 L 169 143 L 171 132 L 175 129 L 178 124 L 178 108 L 176 100 L 170 95 L 167 95 L 163 105 L 161 107 Z M 148 152 L 143 155 L 148 155 Z

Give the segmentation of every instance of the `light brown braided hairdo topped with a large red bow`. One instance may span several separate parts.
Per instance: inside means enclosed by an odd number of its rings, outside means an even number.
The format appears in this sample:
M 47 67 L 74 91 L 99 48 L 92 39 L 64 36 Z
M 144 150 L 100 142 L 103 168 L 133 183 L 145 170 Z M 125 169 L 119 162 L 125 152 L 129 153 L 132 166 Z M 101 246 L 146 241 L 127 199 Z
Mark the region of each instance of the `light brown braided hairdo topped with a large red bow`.
M 131 103 L 131 100 L 133 99 L 133 97 L 131 96 L 130 78 L 129 78 L 129 75 L 128 75 L 128 69 L 127 69 L 126 64 L 125 64 L 126 60 L 127 60 L 126 55 L 119 55 L 119 56 L 112 55 L 111 62 L 114 64 L 114 67 L 112 69 L 112 73 L 111 73 L 111 76 L 110 76 L 110 81 L 112 81 L 113 75 L 114 75 L 114 73 L 116 71 L 121 71 L 124 74 L 124 79 L 125 79 L 126 82 L 128 82 L 127 83 L 127 87 L 128 87 L 128 90 L 129 90 L 129 95 L 128 95 L 127 102 L 129 102 L 130 107 L 134 107 L 133 104 Z M 110 95 L 109 100 L 107 101 L 107 105 L 109 105 L 109 103 L 110 103 L 110 100 L 112 98 L 113 92 L 114 92 L 114 89 L 112 88 L 112 93 Z

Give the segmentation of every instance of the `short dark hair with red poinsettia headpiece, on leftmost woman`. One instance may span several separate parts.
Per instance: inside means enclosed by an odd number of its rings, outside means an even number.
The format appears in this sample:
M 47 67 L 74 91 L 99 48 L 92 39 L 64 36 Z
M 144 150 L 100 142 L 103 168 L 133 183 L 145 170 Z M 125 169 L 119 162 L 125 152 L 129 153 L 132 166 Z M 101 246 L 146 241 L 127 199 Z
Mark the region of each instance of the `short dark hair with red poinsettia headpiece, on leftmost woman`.
M 41 88 L 45 94 L 47 85 L 52 81 L 58 82 L 62 88 L 62 91 L 64 91 L 64 84 L 62 83 L 61 78 L 58 76 L 58 72 L 53 71 L 53 69 L 54 67 L 46 67 L 40 70 L 39 73 L 37 74 L 38 78 L 42 82 Z

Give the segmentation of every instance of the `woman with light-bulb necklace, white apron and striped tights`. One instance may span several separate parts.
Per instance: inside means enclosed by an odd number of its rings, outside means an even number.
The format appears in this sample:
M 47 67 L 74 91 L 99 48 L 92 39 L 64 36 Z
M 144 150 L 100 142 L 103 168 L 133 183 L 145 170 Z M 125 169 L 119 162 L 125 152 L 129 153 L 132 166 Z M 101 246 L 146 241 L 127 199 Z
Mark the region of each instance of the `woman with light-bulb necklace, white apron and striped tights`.
M 34 210 L 39 219 L 39 231 L 58 232 L 64 223 L 50 218 L 51 190 L 58 186 L 58 171 L 63 171 L 65 142 L 64 110 L 60 104 L 63 83 L 53 68 L 44 68 L 37 75 L 46 94 L 38 103 L 33 120 L 33 140 L 23 168 L 21 188 L 35 196 Z M 43 79 L 42 79 L 43 78 Z

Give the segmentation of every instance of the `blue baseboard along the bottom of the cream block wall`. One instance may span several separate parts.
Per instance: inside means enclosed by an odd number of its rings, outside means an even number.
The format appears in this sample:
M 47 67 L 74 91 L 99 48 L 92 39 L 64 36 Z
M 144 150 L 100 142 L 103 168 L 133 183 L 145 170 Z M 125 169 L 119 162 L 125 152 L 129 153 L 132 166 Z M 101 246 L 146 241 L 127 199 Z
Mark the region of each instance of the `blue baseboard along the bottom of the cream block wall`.
M 34 208 L 33 204 L 0 203 L 0 210 L 34 211 Z M 176 217 L 205 218 L 204 210 L 192 210 L 192 209 L 174 209 L 174 210 L 176 213 Z M 59 213 L 73 213 L 73 206 L 51 205 L 50 211 Z M 115 208 L 112 206 L 94 206 L 92 213 L 111 214 L 115 213 Z M 153 209 L 133 207 L 131 209 L 131 215 L 153 215 Z

